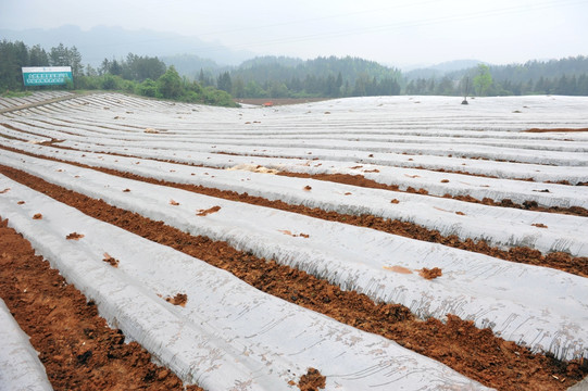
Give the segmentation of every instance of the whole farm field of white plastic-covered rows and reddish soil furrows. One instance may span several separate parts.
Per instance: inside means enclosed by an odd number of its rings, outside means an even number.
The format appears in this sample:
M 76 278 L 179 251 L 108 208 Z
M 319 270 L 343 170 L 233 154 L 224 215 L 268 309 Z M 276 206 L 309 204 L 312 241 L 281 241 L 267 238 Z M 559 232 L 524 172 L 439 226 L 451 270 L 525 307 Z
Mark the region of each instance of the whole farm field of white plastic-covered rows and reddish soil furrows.
M 24 99 L 0 99 L 7 389 L 588 375 L 588 98 Z

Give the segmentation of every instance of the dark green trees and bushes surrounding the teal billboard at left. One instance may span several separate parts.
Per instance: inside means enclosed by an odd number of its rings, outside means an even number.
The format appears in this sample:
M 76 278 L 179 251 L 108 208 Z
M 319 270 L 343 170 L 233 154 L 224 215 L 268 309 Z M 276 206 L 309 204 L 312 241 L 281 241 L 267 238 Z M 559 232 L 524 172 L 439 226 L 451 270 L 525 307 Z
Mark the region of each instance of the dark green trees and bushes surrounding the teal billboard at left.
M 46 51 L 38 45 L 28 48 L 22 41 L 11 42 L 5 39 L 0 42 L 0 92 L 25 89 L 23 66 L 71 66 L 73 83 L 62 88 L 117 90 L 184 102 L 236 105 L 226 91 L 180 77 L 173 65 L 167 67 L 157 56 L 129 53 L 122 60 L 104 59 L 98 68 L 89 64 L 84 67 L 76 47 L 67 48 L 60 43 Z M 26 90 L 47 88 L 55 86 L 26 87 Z

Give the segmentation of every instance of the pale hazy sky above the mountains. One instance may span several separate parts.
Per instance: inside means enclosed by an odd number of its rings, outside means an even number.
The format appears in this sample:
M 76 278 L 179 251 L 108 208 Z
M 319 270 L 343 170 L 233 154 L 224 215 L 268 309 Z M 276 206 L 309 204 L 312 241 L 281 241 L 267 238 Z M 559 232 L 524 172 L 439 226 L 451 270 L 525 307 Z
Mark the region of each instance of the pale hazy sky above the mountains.
M 588 55 L 588 0 L 0 0 L 0 28 L 64 24 L 174 31 L 258 54 L 349 54 L 397 66 Z

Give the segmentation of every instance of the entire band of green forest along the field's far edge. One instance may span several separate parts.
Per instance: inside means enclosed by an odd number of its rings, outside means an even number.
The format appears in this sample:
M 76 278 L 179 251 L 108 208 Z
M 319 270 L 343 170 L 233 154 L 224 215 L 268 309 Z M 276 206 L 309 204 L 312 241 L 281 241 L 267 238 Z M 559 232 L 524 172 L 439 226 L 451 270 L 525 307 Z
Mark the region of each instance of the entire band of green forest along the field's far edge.
M 470 61 L 470 64 L 475 63 Z M 464 63 L 465 64 L 465 63 Z M 165 58 L 128 53 L 104 58 L 97 68 L 83 64 L 76 47 L 0 41 L 0 90 L 22 90 L 22 66 L 72 66 L 68 88 L 122 90 L 148 97 L 212 104 L 243 98 L 337 98 L 396 94 L 439 96 L 588 96 L 588 58 L 529 61 L 442 72 L 437 67 L 402 74 L 374 61 L 346 56 L 301 60 L 262 56 L 238 67 L 185 54 Z M 196 71 L 198 70 L 199 71 Z M 433 68 L 435 70 L 435 68 Z M 164 77 L 165 76 L 165 77 Z M 164 86 L 164 85 L 172 86 Z M 37 87 L 38 88 L 38 87 Z

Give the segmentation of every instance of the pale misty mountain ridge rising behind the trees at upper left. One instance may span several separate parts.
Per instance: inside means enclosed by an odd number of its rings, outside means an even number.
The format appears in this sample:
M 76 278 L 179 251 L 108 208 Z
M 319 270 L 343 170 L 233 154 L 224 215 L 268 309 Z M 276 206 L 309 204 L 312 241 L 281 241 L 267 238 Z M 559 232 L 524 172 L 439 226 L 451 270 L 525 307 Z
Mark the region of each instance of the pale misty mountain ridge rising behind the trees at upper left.
M 75 46 L 82 53 L 83 63 L 92 66 L 99 65 L 104 59 L 126 58 L 128 53 L 150 56 L 188 54 L 225 65 L 237 65 L 254 55 L 252 52 L 228 49 L 218 42 L 207 42 L 197 37 L 175 33 L 127 30 L 107 26 L 93 27 L 90 30 L 72 25 L 21 31 L 0 29 L 0 39 L 23 41 L 29 47 L 40 45 L 46 50 L 59 43 L 66 47 Z

